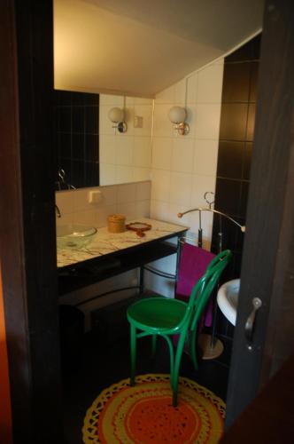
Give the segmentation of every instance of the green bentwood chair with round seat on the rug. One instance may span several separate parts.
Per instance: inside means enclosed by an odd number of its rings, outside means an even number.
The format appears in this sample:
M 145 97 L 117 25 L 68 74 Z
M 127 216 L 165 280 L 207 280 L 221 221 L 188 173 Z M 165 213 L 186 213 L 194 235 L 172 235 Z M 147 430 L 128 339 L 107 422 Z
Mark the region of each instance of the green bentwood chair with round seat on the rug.
M 205 274 L 192 289 L 188 304 L 169 297 L 149 297 L 141 299 L 128 307 L 131 385 L 135 385 L 136 339 L 151 336 L 152 353 L 154 354 L 157 337 L 164 337 L 170 353 L 170 383 L 173 390 L 173 406 L 177 406 L 179 369 L 185 341 L 189 340 L 190 357 L 195 369 L 197 369 L 197 323 L 231 256 L 230 250 L 225 250 L 213 258 Z M 173 345 L 174 335 L 178 335 L 178 343 L 175 349 Z

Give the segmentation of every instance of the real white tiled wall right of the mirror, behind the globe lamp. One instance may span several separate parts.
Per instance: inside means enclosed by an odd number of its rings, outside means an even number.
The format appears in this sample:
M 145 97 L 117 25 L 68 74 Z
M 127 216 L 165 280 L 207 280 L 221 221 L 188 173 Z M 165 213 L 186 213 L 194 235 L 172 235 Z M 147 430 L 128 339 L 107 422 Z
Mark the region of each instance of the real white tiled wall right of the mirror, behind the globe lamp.
M 151 218 L 190 226 L 190 237 L 198 229 L 198 213 L 177 218 L 180 211 L 206 207 L 206 191 L 215 191 L 223 59 L 188 75 L 155 99 L 151 170 Z M 179 136 L 168 120 L 174 106 L 186 107 L 190 133 Z M 213 215 L 202 213 L 204 248 L 209 250 Z M 175 258 L 157 261 L 154 266 L 174 273 Z M 161 279 L 161 281 L 160 281 Z M 171 281 L 150 275 L 149 286 L 173 296 Z

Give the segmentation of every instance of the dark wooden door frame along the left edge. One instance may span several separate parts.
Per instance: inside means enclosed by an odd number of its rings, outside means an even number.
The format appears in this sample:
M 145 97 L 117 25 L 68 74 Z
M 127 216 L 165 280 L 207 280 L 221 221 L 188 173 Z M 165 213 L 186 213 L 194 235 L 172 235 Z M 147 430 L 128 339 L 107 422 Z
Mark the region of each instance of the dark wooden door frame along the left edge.
M 0 6 L 0 251 L 13 441 L 60 442 L 51 0 Z

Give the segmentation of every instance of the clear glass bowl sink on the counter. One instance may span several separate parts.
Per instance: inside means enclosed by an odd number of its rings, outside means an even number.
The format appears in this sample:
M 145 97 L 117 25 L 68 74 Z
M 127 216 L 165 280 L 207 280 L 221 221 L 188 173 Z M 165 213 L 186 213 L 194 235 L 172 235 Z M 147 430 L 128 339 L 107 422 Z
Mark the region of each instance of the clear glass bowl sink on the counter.
M 80 249 L 89 245 L 97 234 L 97 228 L 80 224 L 66 224 L 56 227 L 58 249 Z

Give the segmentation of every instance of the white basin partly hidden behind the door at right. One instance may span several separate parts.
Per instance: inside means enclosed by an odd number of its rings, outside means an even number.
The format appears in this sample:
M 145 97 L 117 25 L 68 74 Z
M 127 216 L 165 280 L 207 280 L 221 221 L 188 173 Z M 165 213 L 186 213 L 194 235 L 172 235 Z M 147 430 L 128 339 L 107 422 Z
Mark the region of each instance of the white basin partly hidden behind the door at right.
M 218 305 L 228 321 L 236 325 L 236 309 L 240 290 L 240 279 L 225 282 L 218 291 Z

